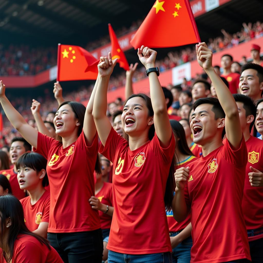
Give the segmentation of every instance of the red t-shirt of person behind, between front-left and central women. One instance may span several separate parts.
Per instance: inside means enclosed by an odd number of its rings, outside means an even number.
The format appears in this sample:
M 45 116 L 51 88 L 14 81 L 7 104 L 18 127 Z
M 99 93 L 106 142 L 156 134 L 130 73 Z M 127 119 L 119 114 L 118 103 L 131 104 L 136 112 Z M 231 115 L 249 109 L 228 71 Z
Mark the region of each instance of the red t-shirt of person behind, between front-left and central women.
M 104 183 L 102 189 L 95 195 L 102 204 L 113 206 L 112 183 Z M 112 224 L 112 217 L 99 211 L 101 229 L 109 229 Z

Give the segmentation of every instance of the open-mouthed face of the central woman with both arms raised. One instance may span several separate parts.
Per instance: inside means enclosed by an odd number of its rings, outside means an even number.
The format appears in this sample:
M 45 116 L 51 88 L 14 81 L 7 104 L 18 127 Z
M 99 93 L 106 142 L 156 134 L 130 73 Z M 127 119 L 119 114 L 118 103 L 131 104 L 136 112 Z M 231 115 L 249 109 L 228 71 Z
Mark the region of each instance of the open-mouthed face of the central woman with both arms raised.
M 141 97 L 129 99 L 123 107 L 122 126 L 129 136 L 138 136 L 146 130 L 149 131 L 150 125 L 153 124 L 153 117 L 149 117 L 149 110 L 145 100 Z

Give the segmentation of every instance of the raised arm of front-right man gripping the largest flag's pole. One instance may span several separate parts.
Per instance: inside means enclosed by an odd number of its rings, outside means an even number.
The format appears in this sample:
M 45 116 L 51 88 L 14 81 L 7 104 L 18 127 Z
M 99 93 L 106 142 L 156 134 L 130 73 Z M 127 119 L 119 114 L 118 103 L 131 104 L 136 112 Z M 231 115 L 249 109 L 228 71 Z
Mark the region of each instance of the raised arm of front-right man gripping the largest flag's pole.
M 238 149 L 242 140 L 242 130 L 236 102 L 225 83 L 215 73 L 212 66 L 213 53 L 204 42 L 196 45 L 196 54 L 199 65 L 205 70 L 214 84 L 216 95 L 226 114 L 226 138 L 234 149 Z

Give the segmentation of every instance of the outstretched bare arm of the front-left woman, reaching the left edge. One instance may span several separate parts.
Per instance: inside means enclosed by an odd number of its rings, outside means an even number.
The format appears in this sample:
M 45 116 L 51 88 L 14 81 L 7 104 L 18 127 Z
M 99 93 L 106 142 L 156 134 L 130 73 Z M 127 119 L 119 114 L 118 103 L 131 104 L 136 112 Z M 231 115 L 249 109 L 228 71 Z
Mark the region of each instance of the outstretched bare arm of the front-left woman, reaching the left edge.
M 21 114 L 13 107 L 10 101 L 5 95 L 5 85 L 0 80 L 0 103 L 6 114 L 6 117 L 11 122 L 13 127 L 21 133 L 21 135 L 30 143 L 32 146 L 37 148 L 37 135 L 38 131 L 31 127 L 21 116 Z

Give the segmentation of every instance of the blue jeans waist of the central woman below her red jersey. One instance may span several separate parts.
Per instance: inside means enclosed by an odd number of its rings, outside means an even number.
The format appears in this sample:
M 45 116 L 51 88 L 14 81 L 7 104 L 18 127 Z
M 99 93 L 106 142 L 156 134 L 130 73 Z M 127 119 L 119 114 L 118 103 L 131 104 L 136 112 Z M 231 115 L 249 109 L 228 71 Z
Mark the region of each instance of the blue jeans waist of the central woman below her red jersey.
M 128 255 L 109 250 L 108 263 L 172 263 L 171 252 Z

